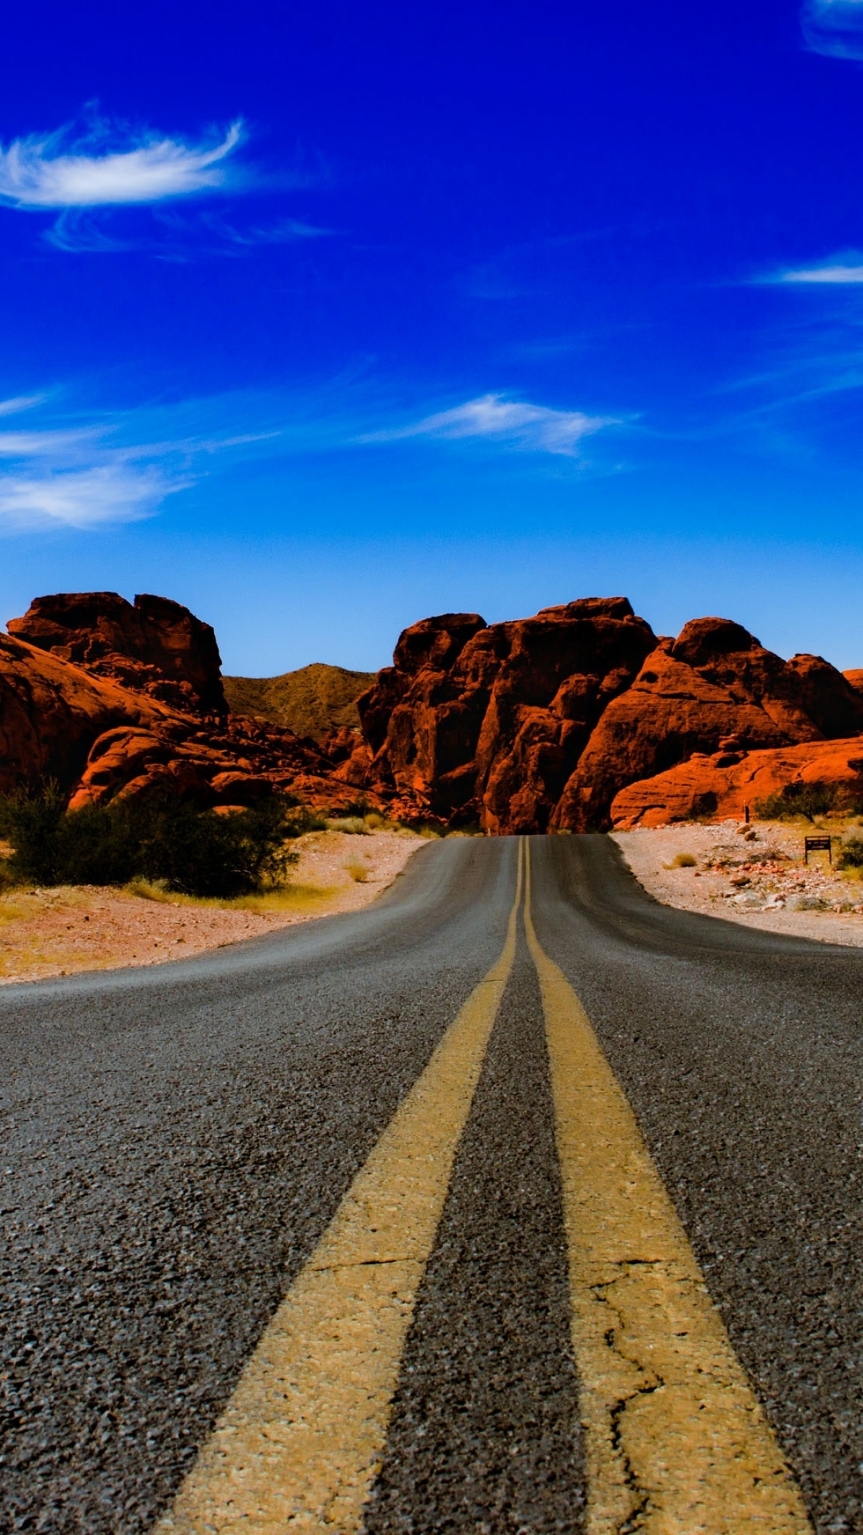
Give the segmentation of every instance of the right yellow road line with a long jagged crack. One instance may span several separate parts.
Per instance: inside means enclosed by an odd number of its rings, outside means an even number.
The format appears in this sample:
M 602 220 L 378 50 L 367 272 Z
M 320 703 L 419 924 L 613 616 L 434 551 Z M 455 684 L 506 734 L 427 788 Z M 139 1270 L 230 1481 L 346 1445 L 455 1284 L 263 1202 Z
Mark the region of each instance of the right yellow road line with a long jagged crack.
M 800 1494 L 573 987 L 525 932 L 542 992 L 587 1535 L 809 1535 Z

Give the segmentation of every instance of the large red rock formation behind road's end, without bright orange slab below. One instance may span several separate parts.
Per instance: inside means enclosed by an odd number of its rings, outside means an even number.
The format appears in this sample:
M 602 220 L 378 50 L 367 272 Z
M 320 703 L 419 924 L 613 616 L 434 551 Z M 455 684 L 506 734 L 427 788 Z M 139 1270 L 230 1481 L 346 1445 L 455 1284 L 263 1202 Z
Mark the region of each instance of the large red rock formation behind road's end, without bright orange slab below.
M 851 737 L 863 695 L 822 657 L 785 662 L 726 619 L 657 640 L 611 597 L 511 623 L 427 619 L 405 629 L 359 715 L 365 781 L 415 814 L 491 834 L 588 830 L 610 824 L 628 784 L 694 754 L 731 766 Z

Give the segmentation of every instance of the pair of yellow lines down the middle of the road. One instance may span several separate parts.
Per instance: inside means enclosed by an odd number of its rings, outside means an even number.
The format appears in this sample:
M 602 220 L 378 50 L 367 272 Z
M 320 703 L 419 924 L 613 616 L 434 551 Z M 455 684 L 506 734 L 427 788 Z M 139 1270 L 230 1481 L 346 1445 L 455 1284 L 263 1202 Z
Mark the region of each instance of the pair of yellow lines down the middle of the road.
M 361 1529 L 419 1283 L 513 969 L 522 892 L 554 1093 L 587 1532 L 811 1532 L 633 1111 L 576 993 L 539 946 L 530 844 L 521 841 L 501 958 L 353 1180 L 154 1535 Z

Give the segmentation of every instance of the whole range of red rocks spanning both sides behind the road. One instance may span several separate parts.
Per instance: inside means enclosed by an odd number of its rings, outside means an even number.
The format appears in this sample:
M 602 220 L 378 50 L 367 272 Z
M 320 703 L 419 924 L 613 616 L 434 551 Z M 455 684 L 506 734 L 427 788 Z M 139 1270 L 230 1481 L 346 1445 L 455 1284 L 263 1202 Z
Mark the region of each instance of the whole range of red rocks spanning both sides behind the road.
M 0 792 L 52 777 L 74 807 L 278 789 L 490 834 L 587 830 L 737 814 L 786 774 L 840 781 L 863 760 L 863 674 L 785 662 L 726 619 L 657 639 L 625 597 L 424 619 L 358 700 L 362 735 L 342 721 L 318 741 L 226 714 L 213 631 L 164 597 L 40 597 L 9 629 Z

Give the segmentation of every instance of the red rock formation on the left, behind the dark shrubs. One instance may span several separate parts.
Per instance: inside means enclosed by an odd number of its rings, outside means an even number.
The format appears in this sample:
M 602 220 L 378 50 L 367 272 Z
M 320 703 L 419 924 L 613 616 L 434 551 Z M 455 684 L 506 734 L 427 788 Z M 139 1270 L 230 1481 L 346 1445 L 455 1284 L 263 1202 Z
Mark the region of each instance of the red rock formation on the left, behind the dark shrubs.
M 201 807 L 255 804 L 273 789 L 327 806 L 356 797 L 333 778 L 356 749 L 353 732 L 324 751 L 267 721 L 226 718 L 213 631 L 178 603 L 41 597 L 9 628 L 0 792 L 54 778 L 74 809 L 154 789 Z

